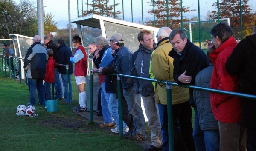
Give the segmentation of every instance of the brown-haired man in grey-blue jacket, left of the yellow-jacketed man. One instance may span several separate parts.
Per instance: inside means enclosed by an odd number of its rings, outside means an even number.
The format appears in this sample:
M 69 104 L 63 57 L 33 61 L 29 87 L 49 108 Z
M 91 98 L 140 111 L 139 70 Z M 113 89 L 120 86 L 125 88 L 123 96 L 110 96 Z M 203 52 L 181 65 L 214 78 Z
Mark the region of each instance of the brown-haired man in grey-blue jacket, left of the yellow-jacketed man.
M 150 78 L 149 66 L 151 54 L 157 44 L 154 43 L 151 32 L 143 29 L 138 34 L 140 42 L 139 50 L 132 55 L 134 61 L 134 76 Z M 162 134 L 159 116 L 157 114 L 158 105 L 152 82 L 134 79 L 134 88 L 137 94 L 143 99 L 145 113 L 148 117 L 148 126 L 151 129 L 151 146 L 145 148 L 145 151 L 162 150 Z

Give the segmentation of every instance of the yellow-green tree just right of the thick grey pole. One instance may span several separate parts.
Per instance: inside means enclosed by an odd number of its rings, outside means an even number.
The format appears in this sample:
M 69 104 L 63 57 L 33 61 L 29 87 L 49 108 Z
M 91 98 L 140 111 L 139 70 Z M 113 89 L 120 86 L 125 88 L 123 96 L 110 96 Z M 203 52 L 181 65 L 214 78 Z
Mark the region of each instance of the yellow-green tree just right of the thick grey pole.
M 48 34 L 49 32 L 56 31 L 57 30 L 57 23 L 54 20 L 52 20 L 54 15 L 52 13 L 44 13 L 44 34 Z

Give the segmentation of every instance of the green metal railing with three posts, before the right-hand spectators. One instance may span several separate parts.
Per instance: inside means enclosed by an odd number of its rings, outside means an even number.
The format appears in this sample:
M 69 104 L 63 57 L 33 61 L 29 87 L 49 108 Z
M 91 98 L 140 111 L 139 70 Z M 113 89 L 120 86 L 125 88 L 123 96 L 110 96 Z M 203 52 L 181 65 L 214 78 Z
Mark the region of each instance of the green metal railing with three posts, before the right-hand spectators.
M 96 71 L 97 73 L 100 73 L 99 71 Z M 102 73 L 101 73 L 102 74 Z M 237 97 L 243 97 L 247 99 L 253 99 L 256 100 L 256 95 L 251 94 L 243 94 L 243 93 L 237 93 L 237 92 L 231 92 L 231 91 L 222 91 L 218 89 L 212 89 L 212 88 L 204 88 L 199 87 L 195 85 L 178 85 L 177 83 L 171 82 L 171 81 L 157 81 L 155 79 L 150 78 L 144 78 L 144 77 L 137 77 L 137 76 L 131 76 L 131 75 L 125 75 L 125 74 L 108 74 L 108 75 L 114 75 L 117 76 L 117 86 L 118 86 L 118 113 L 119 113 L 119 127 L 123 126 L 122 123 L 122 96 L 121 96 L 121 79 L 120 77 L 129 77 L 139 80 L 147 80 L 155 83 L 165 83 L 166 84 L 166 95 L 167 95 L 167 114 L 168 114 L 168 136 L 169 136 L 169 150 L 174 151 L 174 140 L 173 140 L 173 121 L 172 121 L 172 85 L 180 86 L 184 88 L 192 88 L 196 90 L 202 90 L 202 91 L 209 91 L 219 94 L 227 94 L 231 96 L 237 96 Z M 91 81 L 93 81 L 93 73 L 92 70 L 90 70 L 90 78 Z M 90 121 L 93 121 L 93 82 L 90 83 Z M 123 136 L 123 129 L 119 129 L 119 135 Z

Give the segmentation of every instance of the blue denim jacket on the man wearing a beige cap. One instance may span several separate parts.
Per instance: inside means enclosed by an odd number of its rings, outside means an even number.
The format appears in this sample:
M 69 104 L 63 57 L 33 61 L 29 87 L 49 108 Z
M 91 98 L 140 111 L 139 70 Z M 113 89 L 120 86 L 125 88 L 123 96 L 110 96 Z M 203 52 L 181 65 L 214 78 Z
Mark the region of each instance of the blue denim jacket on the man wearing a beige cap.
M 115 50 L 114 69 L 116 73 L 132 75 L 131 70 L 134 67 L 132 54 L 133 52 L 125 46 L 121 46 L 119 49 Z M 122 88 L 125 90 L 129 90 L 133 87 L 132 78 L 121 77 L 121 82 Z

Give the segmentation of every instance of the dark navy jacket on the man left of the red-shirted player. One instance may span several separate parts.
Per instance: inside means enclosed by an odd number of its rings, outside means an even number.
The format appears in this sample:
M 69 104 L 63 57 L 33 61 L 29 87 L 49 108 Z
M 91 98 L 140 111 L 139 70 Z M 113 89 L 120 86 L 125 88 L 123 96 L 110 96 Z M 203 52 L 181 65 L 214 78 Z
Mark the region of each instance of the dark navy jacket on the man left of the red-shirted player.
M 58 46 L 58 55 L 57 55 L 57 63 L 68 65 L 69 66 L 69 74 L 73 73 L 73 63 L 70 61 L 70 57 L 72 56 L 71 49 L 66 46 L 65 43 L 62 43 L 61 46 Z M 58 72 L 61 74 L 67 74 L 66 67 L 57 66 Z

